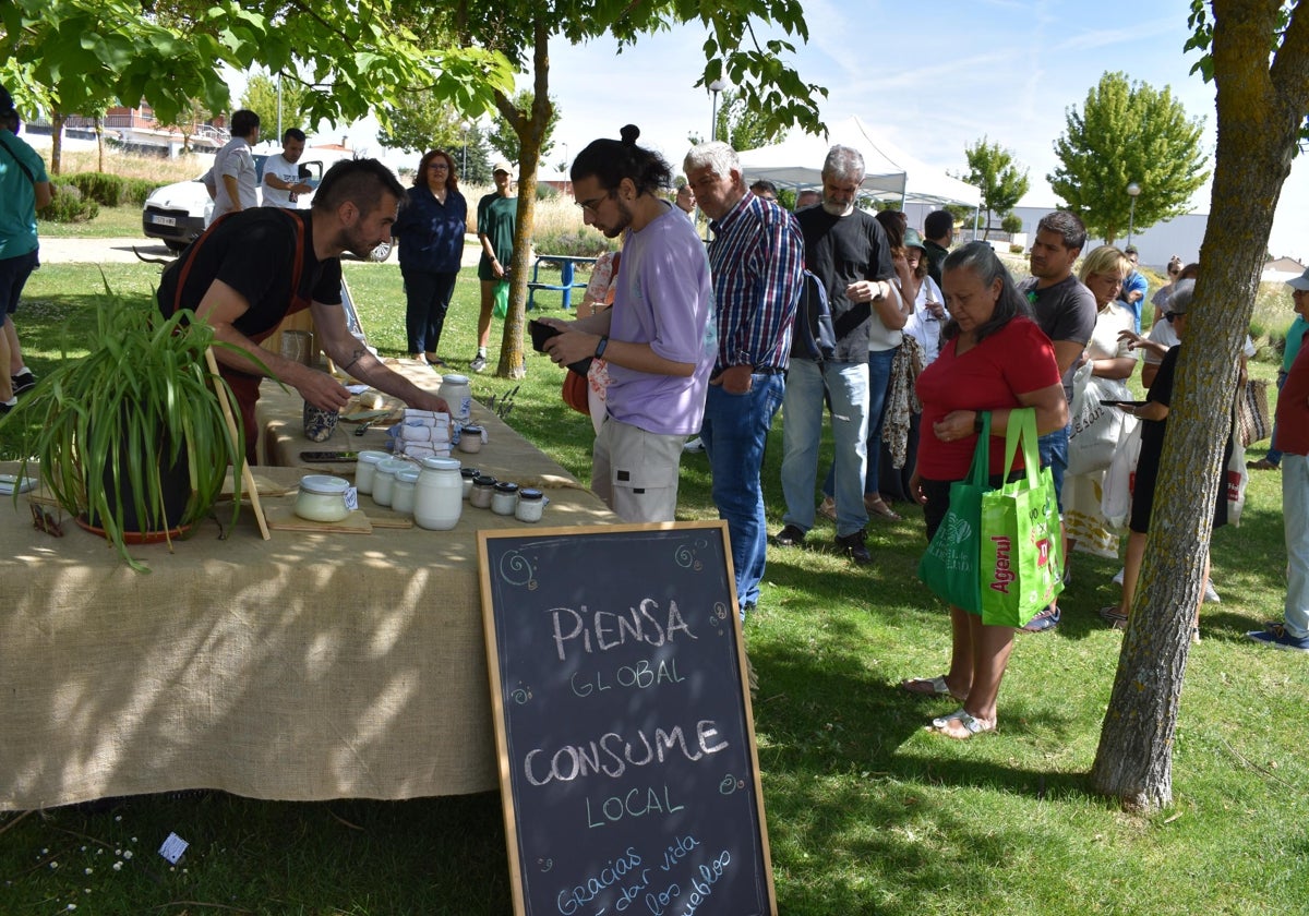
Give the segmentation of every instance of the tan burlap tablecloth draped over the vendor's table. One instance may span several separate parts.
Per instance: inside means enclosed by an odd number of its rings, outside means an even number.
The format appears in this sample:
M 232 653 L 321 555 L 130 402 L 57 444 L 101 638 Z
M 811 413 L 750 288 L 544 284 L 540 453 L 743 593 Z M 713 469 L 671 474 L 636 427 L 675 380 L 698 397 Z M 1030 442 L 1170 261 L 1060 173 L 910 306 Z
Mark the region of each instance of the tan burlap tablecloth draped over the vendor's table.
M 264 421 L 291 427 L 278 419 L 289 404 L 298 424 L 298 398 L 264 387 Z M 543 483 L 545 523 L 618 521 L 478 414 L 490 442 L 465 458 Z M 295 429 L 287 449 L 325 448 Z M 207 521 L 171 554 L 136 548 L 148 574 L 64 522 L 56 539 L 25 499 L 0 501 L 0 809 L 195 788 L 308 801 L 497 786 L 475 533 L 521 522 L 465 504 L 453 531 L 263 540 L 247 509 L 226 539 Z

